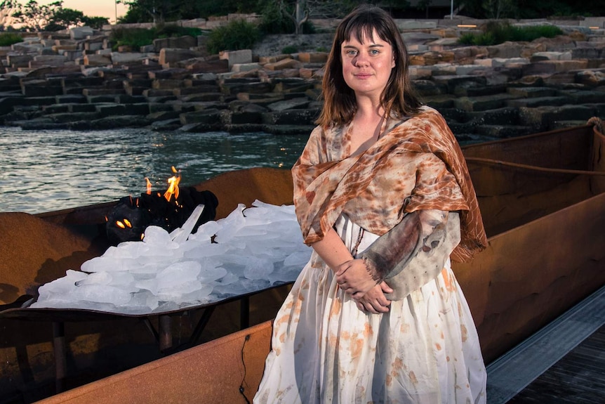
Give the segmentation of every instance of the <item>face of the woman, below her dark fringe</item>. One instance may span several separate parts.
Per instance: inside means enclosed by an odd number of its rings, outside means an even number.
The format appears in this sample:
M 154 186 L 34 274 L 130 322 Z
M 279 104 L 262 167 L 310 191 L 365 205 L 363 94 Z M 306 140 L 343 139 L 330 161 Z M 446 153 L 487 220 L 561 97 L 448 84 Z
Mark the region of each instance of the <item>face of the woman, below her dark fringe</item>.
M 340 46 L 343 77 L 357 96 L 378 97 L 395 66 L 392 46 L 374 31 L 359 42 L 354 36 Z

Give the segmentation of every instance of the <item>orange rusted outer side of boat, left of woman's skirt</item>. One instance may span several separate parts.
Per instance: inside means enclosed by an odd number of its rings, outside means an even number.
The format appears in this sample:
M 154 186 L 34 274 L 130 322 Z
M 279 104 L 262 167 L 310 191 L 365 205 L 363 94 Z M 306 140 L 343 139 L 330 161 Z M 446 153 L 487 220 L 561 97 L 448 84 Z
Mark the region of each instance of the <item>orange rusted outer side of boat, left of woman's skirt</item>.
M 251 403 L 271 330 L 263 322 L 39 403 Z

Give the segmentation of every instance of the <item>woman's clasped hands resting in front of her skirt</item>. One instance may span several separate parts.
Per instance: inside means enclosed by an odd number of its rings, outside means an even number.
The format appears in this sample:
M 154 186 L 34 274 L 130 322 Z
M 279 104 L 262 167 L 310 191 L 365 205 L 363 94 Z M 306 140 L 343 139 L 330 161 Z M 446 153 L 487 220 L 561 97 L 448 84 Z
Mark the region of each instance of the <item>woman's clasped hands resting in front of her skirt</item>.
M 374 314 L 389 311 L 391 301 L 385 297 L 385 293 L 392 293 L 393 289 L 385 281 L 377 284 L 363 259 L 352 259 L 341 264 L 336 268 L 335 276 L 340 289 L 354 299 L 359 310 Z

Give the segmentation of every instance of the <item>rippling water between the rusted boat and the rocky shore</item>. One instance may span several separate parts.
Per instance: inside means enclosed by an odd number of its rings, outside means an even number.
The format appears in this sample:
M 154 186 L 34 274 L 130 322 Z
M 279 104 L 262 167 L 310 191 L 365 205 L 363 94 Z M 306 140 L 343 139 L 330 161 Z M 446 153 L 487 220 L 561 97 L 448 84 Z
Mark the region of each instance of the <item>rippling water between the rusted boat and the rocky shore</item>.
M 249 167 L 290 168 L 308 133 L 22 131 L 0 126 L 0 211 L 35 214 L 165 190 L 181 170 L 181 185 Z

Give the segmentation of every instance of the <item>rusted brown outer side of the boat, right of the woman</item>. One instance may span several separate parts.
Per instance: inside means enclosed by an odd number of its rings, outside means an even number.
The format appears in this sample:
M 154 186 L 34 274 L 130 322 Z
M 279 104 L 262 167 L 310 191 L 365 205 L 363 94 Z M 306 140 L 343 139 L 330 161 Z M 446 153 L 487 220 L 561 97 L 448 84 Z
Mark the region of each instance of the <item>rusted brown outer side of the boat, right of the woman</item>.
M 488 238 L 454 271 L 486 362 L 605 283 L 605 193 Z

